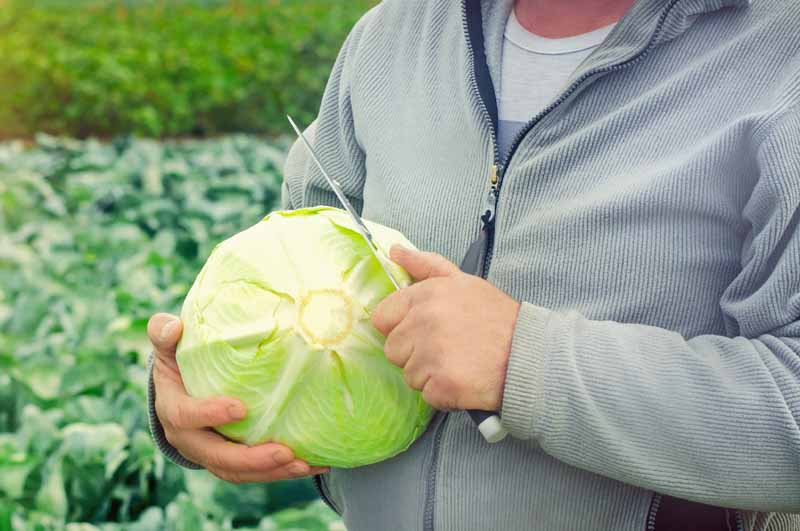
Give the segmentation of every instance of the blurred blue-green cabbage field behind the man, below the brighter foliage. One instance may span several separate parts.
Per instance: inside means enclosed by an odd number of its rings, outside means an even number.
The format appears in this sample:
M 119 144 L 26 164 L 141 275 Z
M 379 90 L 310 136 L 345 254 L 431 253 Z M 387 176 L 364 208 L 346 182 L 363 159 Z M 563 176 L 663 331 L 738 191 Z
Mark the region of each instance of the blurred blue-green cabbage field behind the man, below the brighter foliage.
M 286 144 L 0 144 L 0 531 L 344 529 L 309 480 L 228 485 L 146 427 L 145 325 L 277 204 Z

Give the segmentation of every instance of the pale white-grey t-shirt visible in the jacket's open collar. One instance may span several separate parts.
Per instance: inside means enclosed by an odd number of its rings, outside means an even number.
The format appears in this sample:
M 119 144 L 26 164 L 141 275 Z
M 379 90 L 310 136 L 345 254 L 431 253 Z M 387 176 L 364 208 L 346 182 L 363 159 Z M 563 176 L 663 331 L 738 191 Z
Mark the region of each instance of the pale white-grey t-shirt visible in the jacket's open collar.
M 614 24 L 548 39 L 526 30 L 514 10 L 506 23 L 497 143 L 505 157 L 520 130 L 566 87 L 569 76 L 614 29 Z

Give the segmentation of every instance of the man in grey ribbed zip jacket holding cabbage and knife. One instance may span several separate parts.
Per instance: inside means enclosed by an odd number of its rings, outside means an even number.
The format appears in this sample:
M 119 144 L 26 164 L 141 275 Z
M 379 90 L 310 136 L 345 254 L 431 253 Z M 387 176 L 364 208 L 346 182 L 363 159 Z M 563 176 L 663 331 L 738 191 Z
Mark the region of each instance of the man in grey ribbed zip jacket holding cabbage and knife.
M 241 404 L 185 395 L 159 314 L 162 448 L 319 474 L 351 531 L 800 529 L 798 29 L 793 0 L 383 2 L 314 142 L 366 219 L 441 255 L 394 249 L 419 282 L 373 321 L 451 412 L 353 470 L 224 441 Z M 283 207 L 336 205 L 303 158 Z

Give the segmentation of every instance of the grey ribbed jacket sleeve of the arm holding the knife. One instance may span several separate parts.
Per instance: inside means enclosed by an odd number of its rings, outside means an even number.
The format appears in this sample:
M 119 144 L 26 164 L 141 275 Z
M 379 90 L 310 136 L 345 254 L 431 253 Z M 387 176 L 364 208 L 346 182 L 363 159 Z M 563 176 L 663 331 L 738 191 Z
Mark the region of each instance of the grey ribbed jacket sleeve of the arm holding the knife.
M 800 512 L 800 112 L 764 126 L 728 336 L 524 303 L 502 418 L 573 466 L 671 496 Z

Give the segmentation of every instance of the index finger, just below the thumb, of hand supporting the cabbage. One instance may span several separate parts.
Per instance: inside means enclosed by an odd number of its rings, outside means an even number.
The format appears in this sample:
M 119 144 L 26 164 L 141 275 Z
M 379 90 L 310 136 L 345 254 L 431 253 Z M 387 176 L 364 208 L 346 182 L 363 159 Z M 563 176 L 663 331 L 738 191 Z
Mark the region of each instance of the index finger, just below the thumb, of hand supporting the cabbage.
M 181 382 L 159 378 L 156 382 L 159 419 L 180 430 L 224 426 L 247 416 L 247 408 L 235 398 L 194 398 Z

